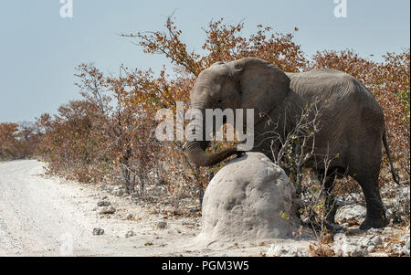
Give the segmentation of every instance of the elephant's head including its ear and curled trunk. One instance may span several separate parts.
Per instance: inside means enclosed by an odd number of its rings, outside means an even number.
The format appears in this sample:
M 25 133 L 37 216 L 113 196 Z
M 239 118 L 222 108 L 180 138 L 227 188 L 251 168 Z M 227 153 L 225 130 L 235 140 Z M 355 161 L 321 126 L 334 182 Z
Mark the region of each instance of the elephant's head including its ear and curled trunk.
M 289 89 L 287 75 L 259 58 L 217 62 L 202 71 L 195 80 L 190 96 L 191 108 L 202 111 L 203 117 L 205 109 L 243 109 L 244 114 L 247 109 L 254 109 L 254 122 L 258 123 L 259 113 L 269 113 L 285 99 Z M 188 157 L 199 166 L 210 166 L 239 153 L 235 147 L 205 153 L 208 145 L 206 141 L 187 143 Z

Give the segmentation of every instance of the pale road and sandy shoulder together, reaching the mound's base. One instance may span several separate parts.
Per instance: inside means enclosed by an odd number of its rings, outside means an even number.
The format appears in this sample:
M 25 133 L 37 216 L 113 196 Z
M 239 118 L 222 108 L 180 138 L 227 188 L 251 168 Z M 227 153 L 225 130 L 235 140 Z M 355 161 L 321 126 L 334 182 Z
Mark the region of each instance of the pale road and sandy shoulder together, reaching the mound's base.
M 199 247 L 195 218 L 163 217 L 100 186 L 46 177 L 44 165 L 0 163 L 0 256 L 260 256 L 272 244 L 308 246 L 307 240 L 273 239 Z M 103 196 L 114 214 L 97 213 Z M 161 221 L 166 227 L 158 227 Z M 94 236 L 95 227 L 104 234 Z M 134 236 L 126 238 L 129 231 Z

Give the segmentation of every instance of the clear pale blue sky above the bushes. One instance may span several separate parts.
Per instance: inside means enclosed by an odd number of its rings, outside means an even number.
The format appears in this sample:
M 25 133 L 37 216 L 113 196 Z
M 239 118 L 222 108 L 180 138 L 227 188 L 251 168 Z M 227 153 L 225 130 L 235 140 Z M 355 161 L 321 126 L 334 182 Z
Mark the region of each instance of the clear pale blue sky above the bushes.
M 244 19 L 244 35 L 258 24 L 300 31 L 296 41 L 316 50 L 353 48 L 378 59 L 409 48 L 409 0 L 347 0 L 347 18 L 333 16 L 333 0 L 99 1 L 73 0 L 73 18 L 59 16 L 59 0 L 2 0 L 0 4 L 0 122 L 32 120 L 79 99 L 74 69 L 95 62 L 104 72 L 124 63 L 158 71 L 166 60 L 148 56 L 121 32 L 160 30 L 174 12 L 190 48 L 204 41 L 202 26 L 225 17 Z

